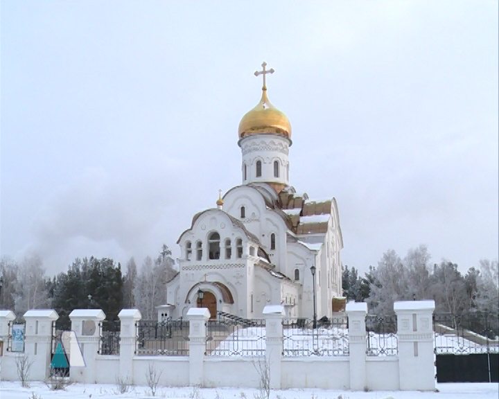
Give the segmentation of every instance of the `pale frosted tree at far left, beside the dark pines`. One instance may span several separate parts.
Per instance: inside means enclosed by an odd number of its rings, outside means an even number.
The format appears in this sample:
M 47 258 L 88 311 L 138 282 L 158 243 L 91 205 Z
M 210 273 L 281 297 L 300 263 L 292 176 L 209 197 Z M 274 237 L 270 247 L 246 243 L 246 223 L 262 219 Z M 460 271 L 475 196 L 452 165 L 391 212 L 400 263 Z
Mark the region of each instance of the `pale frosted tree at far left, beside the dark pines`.
M 21 316 L 30 309 L 49 308 L 51 301 L 40 256 L 26 256 L 17 268 L 14 283 L 14 312 Z

